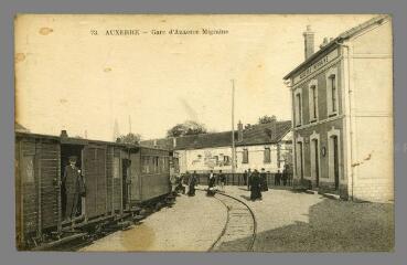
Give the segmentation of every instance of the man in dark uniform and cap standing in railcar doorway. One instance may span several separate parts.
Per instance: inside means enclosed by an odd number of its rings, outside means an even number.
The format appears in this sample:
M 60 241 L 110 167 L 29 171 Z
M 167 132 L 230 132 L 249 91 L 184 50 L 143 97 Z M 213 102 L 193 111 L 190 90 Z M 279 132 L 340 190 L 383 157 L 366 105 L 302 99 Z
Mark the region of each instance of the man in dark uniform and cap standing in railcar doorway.
M 65 167 L 62 177 L 62 189 L 65 190 L 66 204 L 63 216 L 74 219 L 81 213 L 82 195 L 84 193 L 84 180 L 81 170 L 76 167 L 76 157 L 69 157 L 69 165 Z

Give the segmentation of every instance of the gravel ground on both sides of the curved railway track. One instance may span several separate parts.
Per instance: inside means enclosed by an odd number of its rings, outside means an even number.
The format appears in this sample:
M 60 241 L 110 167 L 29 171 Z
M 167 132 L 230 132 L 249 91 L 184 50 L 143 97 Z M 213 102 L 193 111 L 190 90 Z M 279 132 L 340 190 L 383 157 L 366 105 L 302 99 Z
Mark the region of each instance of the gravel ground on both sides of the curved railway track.
M 264 192 L 263 201 L 255 202 L 244 187 L 226 187 L 226 193 L 254 211 L 256 252 L 394 251 L 393 203 L 355 203 L 281 189 Z M 225 206 L 197 191 L 194 198 L 178 197 L 174 206 L 150 215 L 141 225 L 82 251 L 207 251 L 225 221 Z

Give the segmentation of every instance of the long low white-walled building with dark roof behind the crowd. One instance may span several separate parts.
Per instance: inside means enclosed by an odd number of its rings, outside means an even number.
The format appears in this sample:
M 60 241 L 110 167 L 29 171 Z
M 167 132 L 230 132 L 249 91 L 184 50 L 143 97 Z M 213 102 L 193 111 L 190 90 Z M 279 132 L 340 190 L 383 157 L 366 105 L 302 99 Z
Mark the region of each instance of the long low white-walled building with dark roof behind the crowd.
M 181 173 L 210 170 L 232 172 L 232 131 L 141 141 L 143 146 L 167 148 L 178 158 Z M 236 173 L 248 169 L 277 172 L 291 165 L 291 121 L 243 127 L 235 131 Z

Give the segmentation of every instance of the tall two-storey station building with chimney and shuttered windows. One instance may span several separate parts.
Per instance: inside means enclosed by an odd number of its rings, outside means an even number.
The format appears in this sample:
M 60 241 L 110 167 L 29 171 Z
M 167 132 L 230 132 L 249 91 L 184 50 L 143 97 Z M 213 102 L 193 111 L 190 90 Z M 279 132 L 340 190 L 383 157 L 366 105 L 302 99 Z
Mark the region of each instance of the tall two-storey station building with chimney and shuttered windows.
M 394 200 L 392 19 L 321 44 L 283 80 L 292 96 L 294 184 L 341 198 Z

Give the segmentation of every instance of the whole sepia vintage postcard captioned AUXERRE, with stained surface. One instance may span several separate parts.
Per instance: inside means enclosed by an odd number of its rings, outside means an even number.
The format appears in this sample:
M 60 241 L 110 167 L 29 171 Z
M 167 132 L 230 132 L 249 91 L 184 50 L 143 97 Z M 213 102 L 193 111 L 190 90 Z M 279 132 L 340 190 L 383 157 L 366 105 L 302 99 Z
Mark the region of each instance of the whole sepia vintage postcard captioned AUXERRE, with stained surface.
M 15 244 L 394 252 L 388 14 L 18 14 Z

